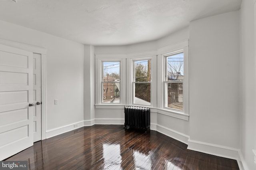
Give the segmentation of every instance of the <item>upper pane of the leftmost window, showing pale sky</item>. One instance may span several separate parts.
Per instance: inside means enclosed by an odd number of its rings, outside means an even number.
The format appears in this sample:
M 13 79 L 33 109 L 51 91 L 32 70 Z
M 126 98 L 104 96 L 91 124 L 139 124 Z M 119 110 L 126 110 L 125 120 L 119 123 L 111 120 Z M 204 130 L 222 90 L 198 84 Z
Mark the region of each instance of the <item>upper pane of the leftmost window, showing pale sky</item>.
M 120 80 L 120 61 L 104 61 L 103 65 L 103 81 Z

